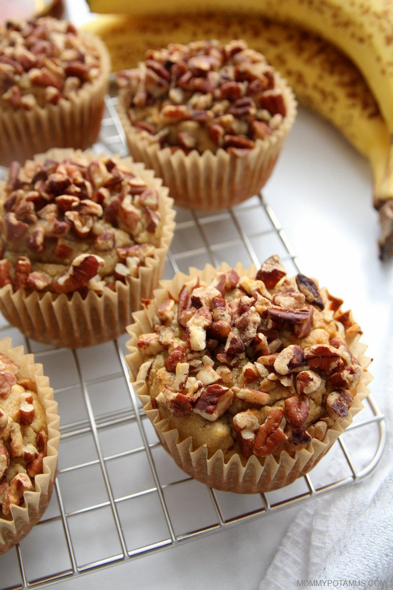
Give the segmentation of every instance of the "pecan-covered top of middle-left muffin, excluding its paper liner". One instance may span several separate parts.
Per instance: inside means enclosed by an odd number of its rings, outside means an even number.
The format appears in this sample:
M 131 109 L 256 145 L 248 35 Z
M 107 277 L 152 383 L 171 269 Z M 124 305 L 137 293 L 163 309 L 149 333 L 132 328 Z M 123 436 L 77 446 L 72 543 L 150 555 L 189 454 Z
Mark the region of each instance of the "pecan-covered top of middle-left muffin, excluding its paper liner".
M 0 287 L 101 294 L 137 277 L 160 245 L 160 184 L 117 156 L 13 162 L 0 186 Z

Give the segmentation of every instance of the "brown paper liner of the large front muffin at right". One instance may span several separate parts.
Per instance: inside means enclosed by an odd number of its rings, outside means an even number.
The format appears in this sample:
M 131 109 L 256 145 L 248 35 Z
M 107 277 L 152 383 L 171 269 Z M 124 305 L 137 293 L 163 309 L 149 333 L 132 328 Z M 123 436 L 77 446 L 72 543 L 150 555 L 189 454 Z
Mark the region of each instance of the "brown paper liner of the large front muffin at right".
M 226 263 L 220 266 L 220 270 L 229 270 L 229 268 L 230 266 Z M 256 273 L 254 266 L 246 270 L 241 264 L 237 264 L 235 270 L 240 277 L 245 275 L 255 277 Z M 151 407 L 151 398 L 148 395 L 146 382 L 136 381 L 140 365 L 145 360 L 137 348 L 137 340 L 140 334 L 152 331 L 154 313 L 156 313 L 158 305 L 167 299 L 168 291 L 176 297 L 180 293 L 184 282 L 194 276 L 199 276 L 207 284 L 210 284 L 216 271 L 216 268 L 208 264 L 202 271 L 197 268 L 190 268 L 189 276 L 177 273 L 173 281 L 161 281 L 163 288 L 154 291 L 154 300 L 148 309 L 133 314 L 134 323 L 127 327 L 131 337 L 127 343 L 129 354 L 126 357 L 130 368 L 130 381 L 143 404 L 147 417 L 154 425 L 163 447 L 187 474 L 218 490 L 237 493 L 259 493 L 276 490 L 288 486 L 296 478 L 308 473 L 332 447 L 345 428 L 351 424 L 352 418 L 363 408 L 362 401 L 369 394 L 367 385 L 372 379 L 372 376 L 366 370 L 370 362 L 364 356 L 366 346 L 358 341 L 358 336 L 351 342 L 352 352 L 363 369 L 362 377 L 356 389 L 354 402 L 349 409 L 348 418 L 341 421 L 341 423 L 336 421 L 326 432 L 323 442 L 313 438 L 308 448 L 297 451 L 293 456 L 290 456 L 286 451 L 282 451 L 279 458 L 275 458 L 273 455 L 266 458 L 257 458 L 252 455 L 244 466 L 238 454 L 232 455 L 227 463 L 224 461 L 223 451 L 221 450 L 209 456 L 206 445 L 194 448 L 191 437 L 181 440 L 179 431 L 170 428 L 169 420 L 167 418 L 161 419 L 158 409 Z

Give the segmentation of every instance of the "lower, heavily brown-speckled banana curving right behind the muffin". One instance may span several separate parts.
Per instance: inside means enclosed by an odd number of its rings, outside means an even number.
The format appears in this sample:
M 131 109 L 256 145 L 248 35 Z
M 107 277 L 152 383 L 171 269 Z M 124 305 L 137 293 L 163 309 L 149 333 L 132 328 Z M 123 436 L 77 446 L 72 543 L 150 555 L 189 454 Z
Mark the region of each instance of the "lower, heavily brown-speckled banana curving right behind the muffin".
M 372 168 L 381 258 L 393 254 L 393 148 L 385 120 L 356 66 L 328 41 L 262 17 L 199 14 L 165 18 L 98 15 L 84 26 L 100 36 L 113 70 L 136 67 L 147 49 L 202 38 L 243 38 L 286 78 L 299 102 L 331 122 Z

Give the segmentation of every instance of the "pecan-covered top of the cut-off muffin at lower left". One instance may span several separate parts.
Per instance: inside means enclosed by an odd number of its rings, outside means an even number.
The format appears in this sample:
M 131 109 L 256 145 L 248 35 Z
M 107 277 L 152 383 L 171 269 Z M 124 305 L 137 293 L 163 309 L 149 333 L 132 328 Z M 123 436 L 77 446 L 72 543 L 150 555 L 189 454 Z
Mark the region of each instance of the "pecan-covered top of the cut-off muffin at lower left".
M 34 490 L 47 456 L 45 410 L 35 382 L 19 375 L 19 366 L 0 354 L 0 517 Z

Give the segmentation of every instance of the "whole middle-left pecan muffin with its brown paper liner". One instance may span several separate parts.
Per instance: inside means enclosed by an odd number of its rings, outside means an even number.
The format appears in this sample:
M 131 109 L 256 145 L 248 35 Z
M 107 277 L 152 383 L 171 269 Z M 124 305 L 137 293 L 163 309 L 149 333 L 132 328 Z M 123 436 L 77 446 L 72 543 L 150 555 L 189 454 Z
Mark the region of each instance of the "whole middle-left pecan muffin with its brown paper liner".
M 0 214 L 0 308 L 22 332 L 64 346 L 125 331 L 158 283 L 174 227 L 153 172 L 80 150 L 13 162 L 0 184 Z

